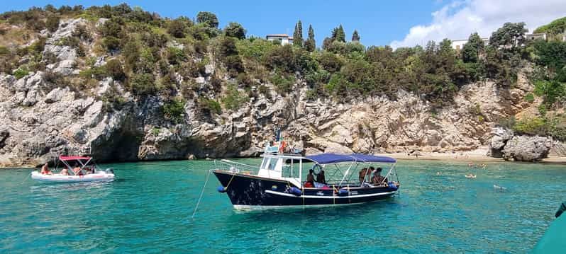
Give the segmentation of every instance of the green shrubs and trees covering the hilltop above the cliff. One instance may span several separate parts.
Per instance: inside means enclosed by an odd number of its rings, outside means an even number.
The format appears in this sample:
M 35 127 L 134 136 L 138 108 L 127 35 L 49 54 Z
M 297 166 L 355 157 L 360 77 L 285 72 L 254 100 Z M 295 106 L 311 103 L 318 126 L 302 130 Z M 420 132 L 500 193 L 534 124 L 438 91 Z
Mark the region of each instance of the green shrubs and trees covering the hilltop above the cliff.
M 472 34 L 461 51 L 453 50 L 447 39 L 395 50 L 389 46 L 365 47 L 357 31 L 347 42 L 342 25 L 338 25 L 322 48 L 316 49 L 311 25 L 308 39 L 303 41 L 301 21 L 296 23 L 293 45 L 277 45 L 257 37 L 246 38 L 246 30 L 239 23 L 219 29 L 214 13 L 199 12 L 194 23 L 187 17 L 161 18 L 127 4 L 45 6 L 2 13 L 0 71 L 17 78 L 27 71 L 45 71 L 57 59 L 42 54 L 45 39 L 39 32 L 53 32 L 68 18 L 85 18 L 89 25 L 60 42 L 77 50 L 82 69 L 80 74 L 61 77 L 60 81 L 88 86 L 110 76 L 123 82 L 135 96 L 164 96 L 172 102 L 171 108 L 165 107 L 172 110 L 171 119 L 177 118 L 173 109 L 179 108 L 178 98 L 194 100 L 205 111 L 216 113 L 237 110 L 251 98 L 267 95 L 266 83 L 285 96 L 301 81 L 309 87 L 307 93 L 312 99 L 395 99 L 396 92 L 403 89 L 440 108 L 450 105 L 466 83 L 491 80 L 500 88 L 514 86 L 518 70 L 528 62 L 536 63 L 536 95 L 544 98 L 545 108 L 556 108 L 565 97 L 565 43 L 528 42 L 524 23 L 504 24 L 492 34 L 489 45 Z M 555 30 L 560 24 L 555 21 L 538 30 Z M 18 30 L 19 35 L 11 30 Z M 33 44 L 23 46 L 34 37 L 37 40 Z M 96 58 L 103 56 L 109 57 L 106 64 L 95 65 Z M 195 83 L 196 78 L 203 77 L 206 82 Z

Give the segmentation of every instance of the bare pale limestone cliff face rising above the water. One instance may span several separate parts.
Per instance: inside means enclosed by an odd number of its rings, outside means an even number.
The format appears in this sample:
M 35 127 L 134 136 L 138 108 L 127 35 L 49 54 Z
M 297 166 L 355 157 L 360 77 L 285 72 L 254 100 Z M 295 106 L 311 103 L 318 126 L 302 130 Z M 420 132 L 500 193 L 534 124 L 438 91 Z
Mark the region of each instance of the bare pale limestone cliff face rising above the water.
M 42 32 L 47 37 L 43 56 L 58 59 L 45 71 L 20 79 L 1 74 L 1 165 L 35 166 L 65 153 L 89 153 L 99 161 L 254 156 L 278 127 L 290 144 L 310 154 L 468 151 L 487 146 L 499 120 L 533 107 L 523 100 L 533 90 L 523 73 L 511 89 L 498 89 L 491 81 L 467 84 L 452 105 L 440 110 L 402 90 L 396 100 L 311 100 L 305 83 L 297 79 L 286 96 L 263 83 L 267 93 L 237 110 L 207 112 L 196 100 L 187 100 L 182 119 L 174 122 L 164 116 L 160 96 L 134 96 L 122 81 L 107 77 L 77 89 L 52 79 L 53 73 L 72 76 L 81 70 L 77 50 L 57 42 L 85 22 L 64 21 L 54 33 Z M 95 55 L 91 50 L 87 54 Z M 97 62 L 111 58 L 107 54 Z M 213 71 L 211 63 L 192 83 L 211 86 Z M 120 107 L 109 106 L 109 93 L 121 101 Z

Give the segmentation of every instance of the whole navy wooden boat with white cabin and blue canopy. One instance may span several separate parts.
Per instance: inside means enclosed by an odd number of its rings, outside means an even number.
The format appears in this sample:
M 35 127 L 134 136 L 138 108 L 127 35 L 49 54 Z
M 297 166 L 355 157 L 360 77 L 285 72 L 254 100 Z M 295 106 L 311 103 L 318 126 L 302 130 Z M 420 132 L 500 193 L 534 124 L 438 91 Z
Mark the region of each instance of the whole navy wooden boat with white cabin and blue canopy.
M 266 149 L 267 151 L 267 149 Z M 270 149 L 269 151 L 274 151 Z M 320 207 L 373 202 L 393 197 L 399 191 L 394 158 L 367 154 L 262 154 L 256 174 L 243 172 L 252 166 L 221 160 L 227 169 L 212 172 L 222 186 L 218 192 L 228 195 L 235 209 L 270 209 L 286 207 Z M 386 163 L 391 165 L 382 183 L 360 183 L 358 171 L 364 166 Z M 376 165 L 377 166 L 377 165 Z M 326 183 L 307 184 L 306 168 L 318 176 L 329 176 Z M 355 175 L 353 177 L 353 175 Z M 396 182 L 387 182 L 388 177 Z M 354 178 L 354 179 L 351 179 Z M 380 179 L 380 178 L 379 178 Z

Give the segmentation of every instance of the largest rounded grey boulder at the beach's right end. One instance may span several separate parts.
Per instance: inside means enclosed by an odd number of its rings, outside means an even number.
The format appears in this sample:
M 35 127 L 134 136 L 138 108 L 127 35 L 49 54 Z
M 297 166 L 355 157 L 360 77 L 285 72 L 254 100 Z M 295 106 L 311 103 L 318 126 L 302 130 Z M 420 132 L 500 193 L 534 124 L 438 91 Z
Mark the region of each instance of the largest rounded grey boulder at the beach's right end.
M 515 136 L 503 149 L 503 157 L 514 161 L 538 161 L 546 158 L 553 147 L 553 139 L 547 137 Z

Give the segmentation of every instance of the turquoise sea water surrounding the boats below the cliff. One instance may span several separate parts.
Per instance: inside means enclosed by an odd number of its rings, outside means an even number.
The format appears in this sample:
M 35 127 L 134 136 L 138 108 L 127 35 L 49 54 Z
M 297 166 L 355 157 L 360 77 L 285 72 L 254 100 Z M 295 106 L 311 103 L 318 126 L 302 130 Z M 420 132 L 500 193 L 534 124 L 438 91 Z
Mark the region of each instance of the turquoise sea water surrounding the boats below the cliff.
M 528 253 L 566 200 L 566 166 L 489 163 L 467 179 L 466 163 L 401 161 L 399 197 L 323 209 L 237 212 L 211 175 L 191 219 L 212 166 L 107 164 L 117 180 L 102 184 L 0 170 L 0 253 Z

